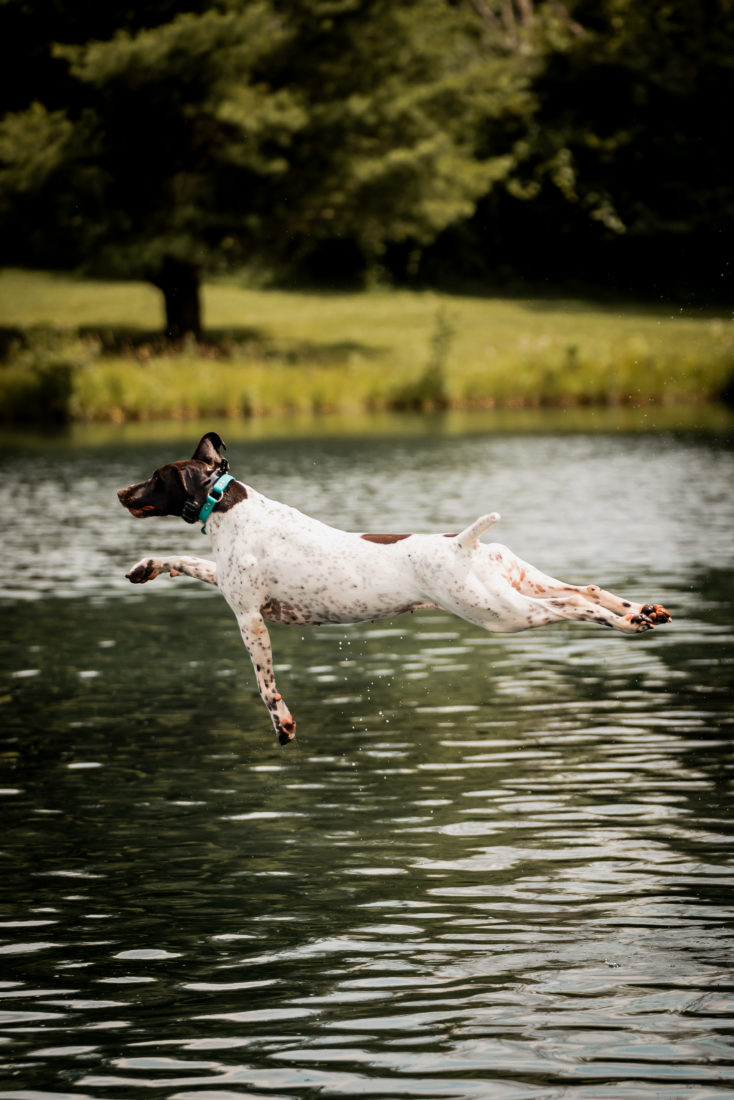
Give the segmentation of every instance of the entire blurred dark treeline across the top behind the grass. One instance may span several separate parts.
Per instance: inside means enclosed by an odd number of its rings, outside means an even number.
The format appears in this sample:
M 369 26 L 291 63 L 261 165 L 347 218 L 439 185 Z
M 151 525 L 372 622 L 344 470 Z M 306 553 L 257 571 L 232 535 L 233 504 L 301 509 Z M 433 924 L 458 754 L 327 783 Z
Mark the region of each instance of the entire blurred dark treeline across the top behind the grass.
M 2 0 L 0 263 L 721 301 L 731 0 Z M 254 277 L 254 276 L 253 276 Z

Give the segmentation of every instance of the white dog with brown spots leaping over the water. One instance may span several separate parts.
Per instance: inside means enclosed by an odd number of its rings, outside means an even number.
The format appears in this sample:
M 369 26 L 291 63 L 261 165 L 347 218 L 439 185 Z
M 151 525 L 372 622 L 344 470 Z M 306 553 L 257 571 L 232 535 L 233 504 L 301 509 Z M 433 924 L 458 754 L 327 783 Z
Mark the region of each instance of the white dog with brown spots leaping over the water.
M 500 519 L 495 512 L 458 535 L 341 531 L 235 481 L 222 450 L 220 437 L 207 432 L 193 458 L 118 492 L 132 516 L 200 521 L 216 561 L 143 558 L 125 575 L 133 584 L 161 573 L 186 575 L 221 591 L 282 745 L 293 739 L 296 724 L 275 686 L 265 620 L 363 623 L 440 608 L 505 634 L 565 619 L 642 634 L 670 620 L 660 604 L 633 604 L 596 584 L 565 584 L 499 542 L 480 542 Z

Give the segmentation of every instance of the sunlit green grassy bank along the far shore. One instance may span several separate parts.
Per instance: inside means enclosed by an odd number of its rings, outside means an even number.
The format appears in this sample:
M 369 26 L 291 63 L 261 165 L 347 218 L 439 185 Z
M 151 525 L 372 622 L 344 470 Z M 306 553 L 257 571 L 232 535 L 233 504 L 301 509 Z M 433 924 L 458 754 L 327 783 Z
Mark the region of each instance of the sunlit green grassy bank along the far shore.
M 166 349 L 157 292 L 0 272 L 0 414 L 76 421 L 708 400 L 734 323 L 670 307 L 205 287 L 206 346 Z

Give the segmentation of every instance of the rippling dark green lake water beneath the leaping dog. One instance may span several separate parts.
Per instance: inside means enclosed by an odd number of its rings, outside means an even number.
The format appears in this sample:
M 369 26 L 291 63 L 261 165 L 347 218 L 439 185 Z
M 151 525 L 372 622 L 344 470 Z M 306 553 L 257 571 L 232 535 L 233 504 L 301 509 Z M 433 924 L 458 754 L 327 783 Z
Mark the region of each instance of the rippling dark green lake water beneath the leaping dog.
M 198 432 L 6 440 L 2 1100 L 734 1097 L 731 440 L 492 427 L 229 457 L 672 624 L 274 627 L 285 749 L 216 591 L 123 578 L 206 557 L 114 496 Z

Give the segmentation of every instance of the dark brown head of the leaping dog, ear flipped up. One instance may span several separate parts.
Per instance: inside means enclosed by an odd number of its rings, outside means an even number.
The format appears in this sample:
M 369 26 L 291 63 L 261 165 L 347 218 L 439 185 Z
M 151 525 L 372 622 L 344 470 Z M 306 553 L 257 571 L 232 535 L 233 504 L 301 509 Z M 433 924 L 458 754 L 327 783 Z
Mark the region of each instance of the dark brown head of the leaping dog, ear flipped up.
M 161 466 L 147 481 L 118 491 L 131 516 L 182 516 L 195 524 L 213 483 L 229 469 L 220 451 L 226 447 L 215 431 L 204 436 L 190 459 Z

